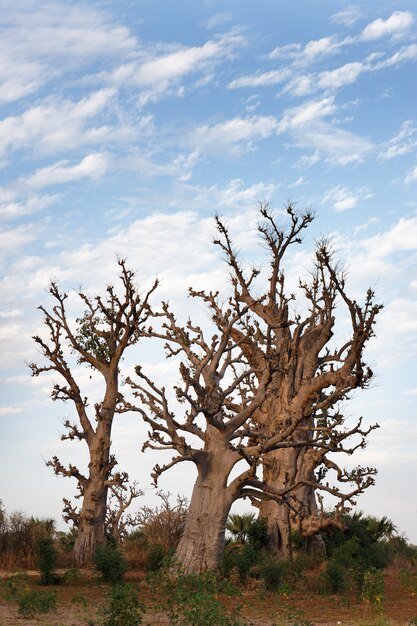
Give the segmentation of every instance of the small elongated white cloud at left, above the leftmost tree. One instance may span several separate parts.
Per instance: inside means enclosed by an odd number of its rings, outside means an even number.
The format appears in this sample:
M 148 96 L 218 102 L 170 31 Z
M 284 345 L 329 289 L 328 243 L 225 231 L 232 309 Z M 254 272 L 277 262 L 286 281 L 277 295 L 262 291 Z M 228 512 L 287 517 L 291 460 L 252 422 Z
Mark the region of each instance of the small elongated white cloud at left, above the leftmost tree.
M 77 165 L 69 165 L 68 161 L 59 161 L 43 167 L 26 179 L 29 187 L 36 189 L 73 182 L 80 178 L 101 178 L 106 173 L 108 157 L 105 154 L 89 154 Z

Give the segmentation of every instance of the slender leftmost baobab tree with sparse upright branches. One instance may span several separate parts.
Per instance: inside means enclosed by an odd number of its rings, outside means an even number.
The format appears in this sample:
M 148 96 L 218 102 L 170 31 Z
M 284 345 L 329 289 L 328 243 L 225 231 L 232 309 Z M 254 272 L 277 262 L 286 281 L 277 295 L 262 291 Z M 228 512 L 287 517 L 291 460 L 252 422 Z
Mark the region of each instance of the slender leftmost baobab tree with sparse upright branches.
M 76 497 L 81 499 L 81 506 L 76 509 L 65 500 L 64 518 L 77 527 L 74 557 L 78 564 L 88 562 L 95 548 L 105 542 L 108 490 L 123 484 L 125 479 L 124 474 L 113 472 L 117 462 L 110 451 L 114 416 L 122 407 L 120 363 L 125 351 L 137 344 L 142 335 L 152 314 L 149 299 L 157 287 L 155 281 L 142 295 L 125 261 L 119 260 L 118 265 L 120 295 L 112 285 L 107 287 L 105 298 L 91 298 L 79 290 L 85 312 L 75 324 L 66 309 L 68 295 L 55 282 L 51 283 L 49 291 L 54 305 L 51 310 L 39 307 L 49 338 L 34 337 L 46 364 L 30 364 L 33 376 L 58 374 L 60 382 L 53 385 L 52 400 L 70 402 L 76 414 L 75 421 L 64 422 L 66 432 L 61 439 L 83 441 L 88 448 L 87 473 L 75 465 L 63 465 L 57 456 L 47 463 L 57 476 L 77 481 Z M 92 368 L 102 379 L 101 400 L 92 407 L 77 382 L 80 366 Z

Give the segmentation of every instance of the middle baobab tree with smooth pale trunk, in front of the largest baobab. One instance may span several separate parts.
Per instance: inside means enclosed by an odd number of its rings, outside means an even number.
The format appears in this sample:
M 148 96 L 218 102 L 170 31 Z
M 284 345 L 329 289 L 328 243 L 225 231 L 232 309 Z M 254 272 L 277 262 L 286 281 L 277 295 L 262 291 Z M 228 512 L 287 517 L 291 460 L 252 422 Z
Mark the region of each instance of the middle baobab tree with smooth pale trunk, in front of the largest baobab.
M 257 275 L 252 273 L 248 287 Z M 234 287 L 228 298 L 221 298 L 218 292 L 190 289 L 191 297 L 208 307 L 214 325 L 211 336 L 191 320 L 181 326 L 168 303 L 162 304 L 161 329 L 149 329 L 149 335 L 165 341 L 168 357 L 179 355 L 182 359 L 180 382 L 174 387 L 175 412 L 166 389 L 141 367 L 136 368 L 137 379 L 127 380 L 139 402 L 126 405 L 126 410 L 139 412 L 151 427 L 144 448 L 176 452 L 170 463 L 156 465 L 155 483 L 163 472 L 183 461 L 193 462 L 197 469 L 184 534 L 175 553 L 176 563 L 185 573 L 198 574 L 220 566 L 227 517 L 233 502 L 240 498 L 273 501 L 286 508 L 297 490 L 307 485 L 333 495 L 343 510 L 373 484 L 371 468 L 348 472 L 324 460 L 331 452 L 352 452 L 345 446 L 350 436 L 357 435 L 356 446 L 363 445 L 368 431 L 361 428 L 360 421 L 349 430 L 337 419 L 304 428 L 303 411 L 295 410 L 294 405 L 281 424 L 265 412 L 271 384 L 283 367 L 282 346 L 275 343 L 274 328 L 257 320 L 257 307 L 263 306 L 264 298 L 244 302 L 236 282 Z M 302 395 L 307 404 L 318 403 L 323 387 L 334 384 L 328 378 L 328 384 L 322 386 L 304 379 L 298 401 Z M 321 482 L 311 471 L 293 473 L 285 484 L 269 483 L 265 472 L 260 476 L 262 463 L 285 449 L 313 450 L 314 459 L 317 454 L 350 490 L 344 492 L 340 485 Z

